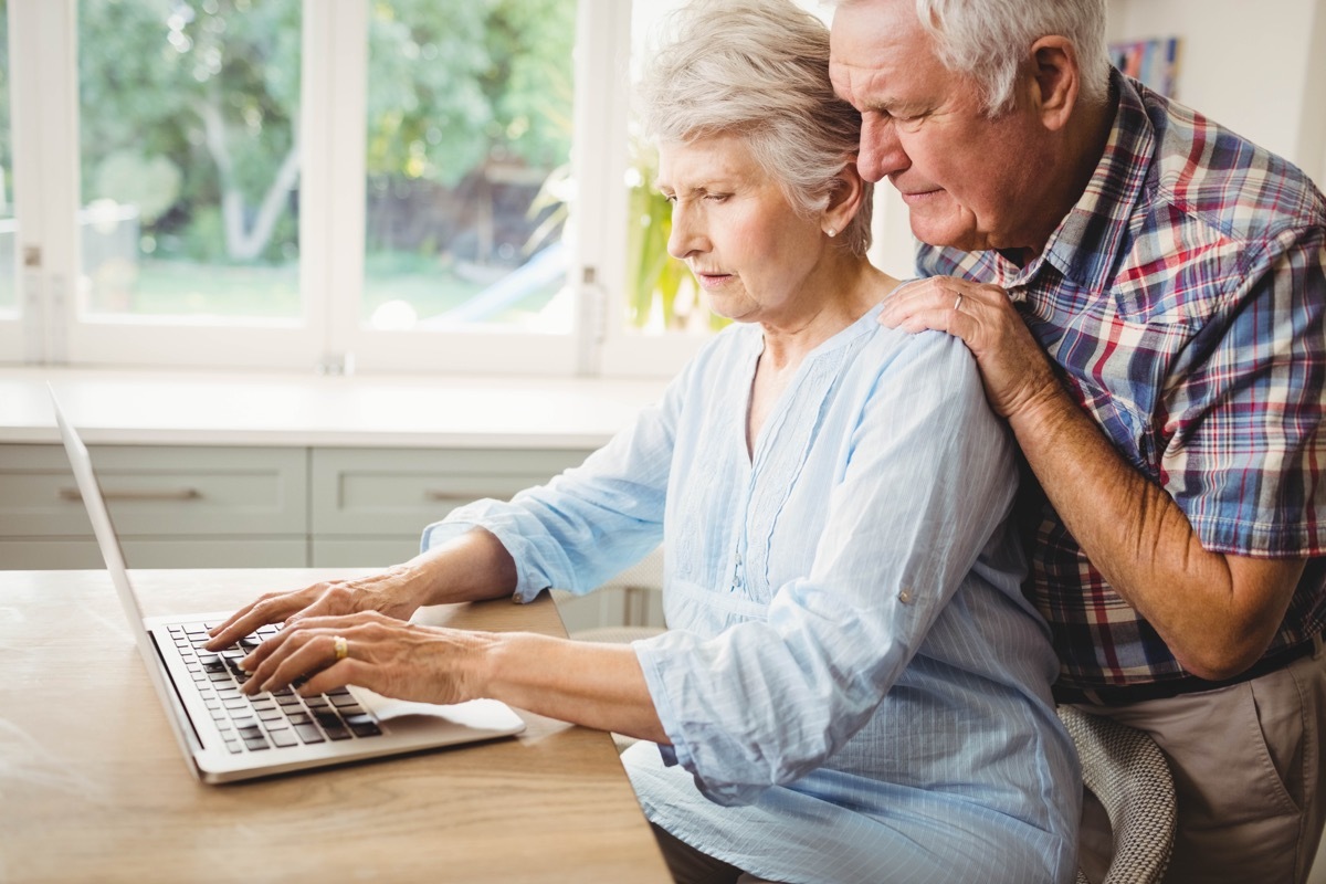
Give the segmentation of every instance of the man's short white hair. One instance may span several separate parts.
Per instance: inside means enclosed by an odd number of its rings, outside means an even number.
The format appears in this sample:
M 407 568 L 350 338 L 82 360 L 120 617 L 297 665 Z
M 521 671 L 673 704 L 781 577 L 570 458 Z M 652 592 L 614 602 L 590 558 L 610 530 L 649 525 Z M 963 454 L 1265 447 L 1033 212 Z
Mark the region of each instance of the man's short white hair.
M 1109 99 L 1105 0 L 916 0 L 916 16 L 935 38 L 940 62 L 980 83 L 991 115 L 1012 106 L 1028 49 L 1048 34 L 1066 37 L 1077 49 L 1082 101 Z

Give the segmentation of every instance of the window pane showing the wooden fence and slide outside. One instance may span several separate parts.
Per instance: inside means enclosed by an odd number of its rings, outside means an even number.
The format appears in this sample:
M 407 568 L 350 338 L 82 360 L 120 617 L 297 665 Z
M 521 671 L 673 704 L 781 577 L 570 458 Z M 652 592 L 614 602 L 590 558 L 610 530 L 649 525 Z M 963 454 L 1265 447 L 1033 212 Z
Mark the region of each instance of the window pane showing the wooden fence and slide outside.
M 569 333 L 574 4 L 369 15 L 361 323 Z

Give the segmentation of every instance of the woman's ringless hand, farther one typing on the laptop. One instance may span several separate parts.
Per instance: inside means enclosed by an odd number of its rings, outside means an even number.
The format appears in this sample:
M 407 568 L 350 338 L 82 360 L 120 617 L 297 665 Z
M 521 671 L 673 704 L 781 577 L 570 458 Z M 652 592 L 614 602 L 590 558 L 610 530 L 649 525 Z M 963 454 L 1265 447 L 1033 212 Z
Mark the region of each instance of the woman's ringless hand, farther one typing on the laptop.
M 208 651 L 228 648 L 269 623 L 290 626 L 306 618 L 379 611 L 407 620 L 419 607 L 418 574 L 399 565 L 350 580 L 325 580 L 290 592 L 268 592 L 211 631 Z

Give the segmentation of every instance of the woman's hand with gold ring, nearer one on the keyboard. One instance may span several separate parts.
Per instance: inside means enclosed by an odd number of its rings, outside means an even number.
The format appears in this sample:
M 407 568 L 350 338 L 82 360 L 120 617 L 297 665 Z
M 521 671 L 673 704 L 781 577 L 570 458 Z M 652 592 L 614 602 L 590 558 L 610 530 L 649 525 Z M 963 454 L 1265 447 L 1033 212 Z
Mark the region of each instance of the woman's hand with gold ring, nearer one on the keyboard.
M 479 696 L 480 663 L 493 636 L 398 620 L 377 611 L 301 616 L 240 661 L 255 694 L 306 680 L 298 692 L 353 684 L 398 700 L 452 704 Z

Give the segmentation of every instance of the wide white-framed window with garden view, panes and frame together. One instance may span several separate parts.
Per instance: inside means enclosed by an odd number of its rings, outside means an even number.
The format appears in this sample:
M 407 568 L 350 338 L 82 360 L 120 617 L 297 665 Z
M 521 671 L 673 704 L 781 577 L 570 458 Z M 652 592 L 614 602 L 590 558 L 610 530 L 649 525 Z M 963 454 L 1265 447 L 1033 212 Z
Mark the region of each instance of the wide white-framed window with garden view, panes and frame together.
M 656 375 L 707 333 L 629 288 L 631 4 L 0 8 L 0 362 Z

